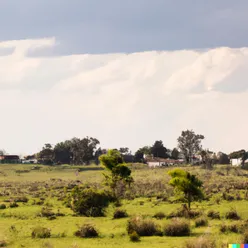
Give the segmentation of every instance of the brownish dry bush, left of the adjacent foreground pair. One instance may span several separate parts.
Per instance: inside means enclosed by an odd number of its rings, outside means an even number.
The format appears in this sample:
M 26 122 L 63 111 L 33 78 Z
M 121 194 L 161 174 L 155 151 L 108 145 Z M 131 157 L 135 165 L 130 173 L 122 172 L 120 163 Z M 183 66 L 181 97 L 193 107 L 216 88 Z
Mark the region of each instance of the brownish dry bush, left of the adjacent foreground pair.
M 161 232 L 152 220 L 143 219 L 142 217 L 130 219 L 127 224 L 127 232 L 129 235 L 136 232 L 139 236 L 161 235 Z

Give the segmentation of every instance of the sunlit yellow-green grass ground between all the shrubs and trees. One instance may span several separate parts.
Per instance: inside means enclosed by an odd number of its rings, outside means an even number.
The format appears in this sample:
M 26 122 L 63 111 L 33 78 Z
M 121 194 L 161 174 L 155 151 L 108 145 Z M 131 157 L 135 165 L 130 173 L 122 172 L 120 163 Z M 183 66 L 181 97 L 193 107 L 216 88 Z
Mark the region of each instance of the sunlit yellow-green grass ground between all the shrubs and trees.
M 191 173 L 197 174 L 204 181 L 204 189 L 209 195 L 208 201 L 192 204 L 193 209 L 203 211 L 205 214 L 209 210 L 219 211 L 220 220 L 209 219 L 207 227 L 194 227 L 194 220 L 190 221 L 192 234 L 190 237 L 141 237 L 141 242 L 132 243 L 126 231 L 128 218 L 113 220 L 115 208 L 111 205 L 107 209 L 105 217 L 86 218 L 74 216 L 69 208 L 63 205 L 58 198 L 63 193 L 63 188 L 75 181 L 81 181 L 89 185 L 101 187 L 103 181 L 103 168 L 99 166 L 59 166 L 47 167 L 41 166 L 40 170 L 31 170 L 32 165 L 0 165 L 0 204 L 7 205 L 7 209 L 0 210 L 0 240 L 6 240 L 8 247 L 168 247 L 181 248 L 185 241 L 196 239 L 202 235 L 207 235 L 217 242 L 217 247 L 222 244 L 240 242 L 241 234 L 222 234 L 219 231 L 220 225 L 234 221 L 226 220 L 225 213 L 230 208 L 235 208 L 240 214 L 242 220 L 248 220 L 247 198 L 247 173 L 245 171 L 233 169 L 229 175 L 225 174 L 223 167 L 218 166 L 213 171 L 206 171 L 197 167 L 185 167 Z M 80 173 L 76 176 L 75 171 L 79 169 Z M 17 173 L 16 171 L 25 171 Z M 135 184 L 131 193 L 135 196 L 133 200 L 123 200 L 122 209 L 125 209 L 129 216 L 143 215 L 152 218 L 157 212 L 163 212 L 165 215 L 175 211 L 182 203 L 173 203 L 173 190 L 168 186 L 168 169 L 148 169 L 143 167 L 133 170 Z M 225 175 L 218 175 L 223 171 Z M 243 185 L 244 183 L 244 185 Z M 226 201 L 222 195 L 226 192 L 236 196 L 240 193 L 242 200 Z M 39 194 L 39 195 L 36 195 Z M 28 203 L 18 203 L 19 207 L 9 208 L 8 199 L 17 196 L 27 196 Z M 162 200 L 165 195 L 167 200 Z M 220 198 L 217 204 L 216 195 Z M 40 198 L 44 198 L 43 205 L 35 205 Z M 48 220 L 37 216 L 41 208 L 48 205 L 53 212 L 65 214 L 57 217 L 55 220 Z M 168 221 L 153 220 L 161 227 Z M 237 221 L 237 222 L 241 222 Z M 100 233 L 99 238 L 80 239 L 73 235 L 77 230 L 77 225 L 83 223 L 92 223 Z M 51 229 L 51 238 L 32 239 L 31 232 L 37 225 Z M 61 234 L 65 233 L 65 237 Z

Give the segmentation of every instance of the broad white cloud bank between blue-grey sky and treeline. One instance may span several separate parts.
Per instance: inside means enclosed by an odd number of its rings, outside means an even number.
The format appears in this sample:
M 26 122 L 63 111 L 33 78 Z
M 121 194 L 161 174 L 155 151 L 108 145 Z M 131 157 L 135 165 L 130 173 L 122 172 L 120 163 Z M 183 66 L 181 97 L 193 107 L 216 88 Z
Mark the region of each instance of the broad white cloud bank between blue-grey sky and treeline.
M 91 135 L 133 150 L 155 139 L 176 145 L 182 129 L 205 145 L 246 148 L 248 48 L 29 57 L 55 39 L 7 41 L 0 56 L 0 147 L 35 152 L 43 143 Z

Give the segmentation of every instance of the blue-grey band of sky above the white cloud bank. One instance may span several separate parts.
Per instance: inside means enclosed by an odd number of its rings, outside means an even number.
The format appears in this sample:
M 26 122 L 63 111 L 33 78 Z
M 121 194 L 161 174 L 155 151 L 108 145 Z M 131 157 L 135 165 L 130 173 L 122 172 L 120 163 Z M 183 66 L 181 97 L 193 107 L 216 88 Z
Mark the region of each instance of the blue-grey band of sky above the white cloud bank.
M 53 54 L 242 47 L 247 11 L 246 0 L 1 0 L 1 40 L 56 37 Z

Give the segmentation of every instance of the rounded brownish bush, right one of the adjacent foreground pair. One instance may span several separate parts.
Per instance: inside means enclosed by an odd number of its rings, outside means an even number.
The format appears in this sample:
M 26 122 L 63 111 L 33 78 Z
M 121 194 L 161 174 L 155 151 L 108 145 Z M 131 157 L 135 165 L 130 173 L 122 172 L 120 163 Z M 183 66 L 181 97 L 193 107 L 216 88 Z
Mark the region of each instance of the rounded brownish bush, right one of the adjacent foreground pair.
M 164 234 L 166 236 L 189 236 L 190 224 L 188 221 L 174 219 L 171 223 L 165 225 Z

